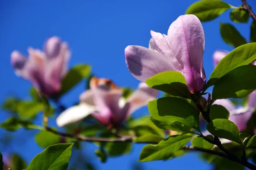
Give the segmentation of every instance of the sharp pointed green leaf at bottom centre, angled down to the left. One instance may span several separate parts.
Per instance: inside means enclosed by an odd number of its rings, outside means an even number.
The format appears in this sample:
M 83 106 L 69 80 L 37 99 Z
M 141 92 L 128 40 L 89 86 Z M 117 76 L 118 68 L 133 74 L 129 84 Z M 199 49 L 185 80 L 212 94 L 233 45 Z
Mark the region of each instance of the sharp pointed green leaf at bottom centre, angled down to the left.
M 189 142 L 191 135 L 174 135 L 162 140 L 157 145 L 147 144 L 140 153 L 139 161 L 156 161 L 169 159 L 177 150 Z

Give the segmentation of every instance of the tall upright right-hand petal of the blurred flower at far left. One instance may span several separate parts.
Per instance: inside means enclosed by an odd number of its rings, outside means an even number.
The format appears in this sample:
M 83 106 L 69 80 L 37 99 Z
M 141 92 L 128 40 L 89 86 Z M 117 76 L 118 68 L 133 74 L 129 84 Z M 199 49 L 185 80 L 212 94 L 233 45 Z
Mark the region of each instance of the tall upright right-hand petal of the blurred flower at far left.
M 58 37 L 50 37 L 44 45 L 46 51 L 45 59 L 45 81 L 52 87 L 53 91 L 61 89 L 61 79 L 67 70 L 67 60 L 70 51 L 66 43 L 62 43 Z

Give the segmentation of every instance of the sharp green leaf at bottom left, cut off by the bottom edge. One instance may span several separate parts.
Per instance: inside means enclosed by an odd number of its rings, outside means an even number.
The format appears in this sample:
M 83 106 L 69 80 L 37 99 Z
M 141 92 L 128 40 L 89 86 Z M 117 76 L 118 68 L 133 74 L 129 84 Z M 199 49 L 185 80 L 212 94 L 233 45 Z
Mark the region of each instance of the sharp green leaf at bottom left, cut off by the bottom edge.
M 36 155 L 26 170 L 67 170 L 73 143 L 55 144 Z

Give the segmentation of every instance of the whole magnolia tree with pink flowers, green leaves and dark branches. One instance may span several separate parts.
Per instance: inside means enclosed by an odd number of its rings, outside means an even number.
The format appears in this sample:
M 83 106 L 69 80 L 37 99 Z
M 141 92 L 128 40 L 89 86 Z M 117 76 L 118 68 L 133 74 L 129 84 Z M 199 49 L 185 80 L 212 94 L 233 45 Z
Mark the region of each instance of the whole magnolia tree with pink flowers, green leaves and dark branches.
M 127 46 L 126 65 L 141 81 L 135 91 L 92 76 L 89 65 L 68 70 L 70 49 L 59 37 L 49 37 L 43 51 L 28 48 L 28 57 L 13 51 L 15 73 L 33 85 L 32 100 L 6 99 L 3 109 L 13 116 L 0 127 L 38 129 L 35 141 L 46 148 L 28 167 L 19 168 L 66 170 L 72 147 L 92 142 L 99 147 L 95 153 L 102 162 L 129 153 L 132 143 L 143 143 L 138 161 L 172 161 L 197 151 L 216 170 L 256 170 L 256 15 L 246 0 L 241 4 L 200 0 L 171 23 L 167 35 L 151 31 L 148 48 Z M 201 22 L 214 20 L 228 9 L 235 23 L 252 18 L 250 40 L 232 24 L 221 23 L 221 37 L 234 50 L 216 49 L 215 69 L 207 78 Z M 77 96 L 79 103 L 70 108 L 61 105 L 61 97 L 84 79 L 87 90 Z M 210 87 L 212 92 L 206 92 Z M 165 93 L 157 99 L 159 91 Z M 131 117 L 146 105 L 150 116 Z M 33 123 L 38 113 L 44 115 L 41 126 Z M 55 113 L 60 113 L 55 121 L 61 130 L 49 126 L 48 119 Z M 14 168 L 5 156 L 0 164 L 2 170 Z

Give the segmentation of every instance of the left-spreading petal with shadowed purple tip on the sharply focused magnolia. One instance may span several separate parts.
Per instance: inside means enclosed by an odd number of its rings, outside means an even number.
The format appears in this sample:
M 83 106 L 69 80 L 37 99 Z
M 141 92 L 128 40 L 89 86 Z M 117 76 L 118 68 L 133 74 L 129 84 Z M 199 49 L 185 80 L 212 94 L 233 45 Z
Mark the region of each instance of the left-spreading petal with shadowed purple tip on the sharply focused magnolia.
M 127 46 L 125 62 L 131 74 L 142 82 L 157 73 L 175 70 L 169 59 L 142 46 Z

